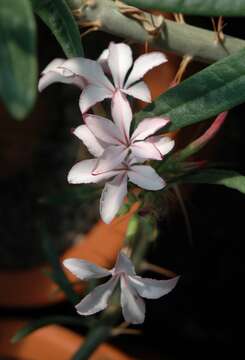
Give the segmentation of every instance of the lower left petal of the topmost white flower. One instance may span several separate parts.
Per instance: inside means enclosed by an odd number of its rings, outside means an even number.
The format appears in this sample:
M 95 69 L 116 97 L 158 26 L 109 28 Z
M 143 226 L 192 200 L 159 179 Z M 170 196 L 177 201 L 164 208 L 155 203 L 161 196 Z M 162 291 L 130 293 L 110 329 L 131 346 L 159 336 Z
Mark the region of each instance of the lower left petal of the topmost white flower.
M 86 113 L 93 105 L 111 97 L 112 92 L 105 87 L 93 84 L 85 86 L 79 99 L 81 113 Z

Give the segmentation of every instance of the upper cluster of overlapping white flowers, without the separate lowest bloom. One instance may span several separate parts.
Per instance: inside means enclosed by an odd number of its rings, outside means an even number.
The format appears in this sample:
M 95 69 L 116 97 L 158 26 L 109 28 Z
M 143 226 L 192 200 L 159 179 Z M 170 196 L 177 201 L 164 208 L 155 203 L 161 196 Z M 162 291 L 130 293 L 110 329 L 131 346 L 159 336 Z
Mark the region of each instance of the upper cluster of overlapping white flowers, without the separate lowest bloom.
M 128 180 L 146 190 L 160 190 L 165 181 L 146 160 L 162 160 L 174 146 L 167 136 L 154 136 L 168 119 L 144 119 L 132 132 L 132 110 L 127 95 L 150 102 L 151 95 L 142 77 L 166 62 L 160 52 L 141 55 L 133 64 L 128 45 L 111 43 L 97 61 L 86 58 L 56 59 L 42 72 L 39 90 L 54 82 L 75 84 L 82 89 L 79 106 L 84 123 L 74 134 L 87 146 L 93 159 L 73 166 L 68 175 L 72 184 L 106 182 L 100 213 L 110 223 L 127 194 Z M 96 103 L 111 98 L 112 120 L 88 114 Z

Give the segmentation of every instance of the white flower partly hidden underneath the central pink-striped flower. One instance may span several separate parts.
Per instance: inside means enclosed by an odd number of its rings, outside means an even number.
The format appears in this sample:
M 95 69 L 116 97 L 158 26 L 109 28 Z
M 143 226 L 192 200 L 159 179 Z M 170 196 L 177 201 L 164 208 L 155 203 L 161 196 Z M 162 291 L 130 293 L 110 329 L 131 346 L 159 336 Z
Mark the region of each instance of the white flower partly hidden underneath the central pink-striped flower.
M 82 132 L 84 137 L 85 132 L 89 131 L 86 127 L 82 128 L 83 126 L 85 125 L 81 125 L 75 130 L 77 136 L 79 136 L 79 132 Z M 84 129 L 86 130 L 83 131 Z M 95 152 L 99 152 L 101 145 L 99 143 L 92 143 L 92 133 L 89 136 L 90 150 L 92 145 L 93 149 L 96 147 Z M 88 137 L 86 141 L 88 144 Z M 94 175 L 93 172 L 97 161 L 97 159 L 89 159 L 75 164 L 68 174 L 68 182 L 71 184 L 82 184 L 106 181 L 100 198 L 100 215 L 106 224 L 113 220 L 123 204 L 123 199 L 128 192 L 128 180 L 146 190 L 160 190 L 166 185 L 165 181 L 151 166 L 138 164 L 139 160 L 133 156 L 129 156 L 127 160 L 110 171 Z

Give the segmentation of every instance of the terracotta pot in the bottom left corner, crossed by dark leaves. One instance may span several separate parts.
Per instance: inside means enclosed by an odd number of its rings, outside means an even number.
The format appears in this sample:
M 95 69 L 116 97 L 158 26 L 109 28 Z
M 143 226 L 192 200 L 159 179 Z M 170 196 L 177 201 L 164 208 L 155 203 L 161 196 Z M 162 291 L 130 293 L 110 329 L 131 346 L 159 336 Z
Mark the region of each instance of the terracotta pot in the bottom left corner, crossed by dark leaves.
M 62 326 L 49 325 L 34 331 L 16 344 L 12 336 L 25 325 L 24 321 L 1 320 L 0 358 L 18 360 L 70 360 L 84 338 Z M 113 346 L 102 344 L 90 357 L 91 360 L 133 360 Z

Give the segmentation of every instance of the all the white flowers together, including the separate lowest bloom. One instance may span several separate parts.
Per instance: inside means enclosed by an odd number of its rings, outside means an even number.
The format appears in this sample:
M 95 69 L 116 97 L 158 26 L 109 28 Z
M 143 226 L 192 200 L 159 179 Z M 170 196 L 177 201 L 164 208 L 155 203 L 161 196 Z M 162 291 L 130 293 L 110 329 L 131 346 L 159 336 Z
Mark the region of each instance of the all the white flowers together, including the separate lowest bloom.
M 68 174 L 68 182 L 105 182 L 100 200 L 100 213 L 105 223 L 110 223 L 121 207 L 128 181 L 147 190 L 160 190 L 165 186 L 156 171 L 144 163 L 162 160 L 172 150 L 174 141 L 171 138 L 154 135 L 169 119 L 147 118 L 132 131 L 133 116 L 127 96 L 150 102 L 150 91 L 141 79 L 150 69 L 166 61 L 162 53 L 152 52 L 140 56 L 133 64 L 129 46 L 111 43 L 97 61 L 55 59 L 42 72 L 40 91 L 54 82 L 75 84 L 82 90 L 79 106 L 84 124 L 74 130 L 74 135 L 94 158 L 75 164 Z M 93 105 L 104 99 L 111 99 L 112 120 L 88 113 Z M 166 295 L 178 281 L 178 277 L 153 280 L 137 276 L 132 262 L 122 251 L 111 270 L 79 259 L 66 259 L 64 265 L 81 280 L 111 276 L 76 306 L 79 314 L 91 315 L 105 309 L 120 282 L 123 316 L 133 324 L 144 321 L 142 297 L 156 299 Z

